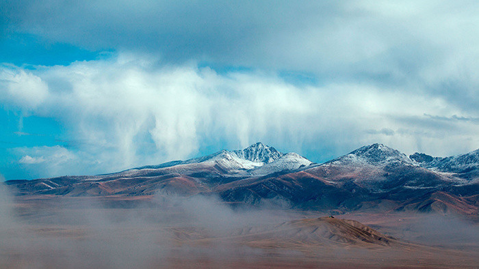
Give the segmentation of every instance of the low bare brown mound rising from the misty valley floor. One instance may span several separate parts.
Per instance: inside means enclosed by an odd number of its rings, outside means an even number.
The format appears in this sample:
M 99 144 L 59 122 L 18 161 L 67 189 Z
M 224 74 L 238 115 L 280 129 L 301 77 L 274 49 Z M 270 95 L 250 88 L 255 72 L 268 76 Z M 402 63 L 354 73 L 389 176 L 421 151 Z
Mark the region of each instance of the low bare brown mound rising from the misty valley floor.
M 321 217 L 288 221 L 279 225 L 263 225 L 233 229 L 222 235 L 211 231 L 191 228 L 174 228 L 178 242 L 207 244 L 209 242 L 230 242 L 245 244 L 261 249 L 293 248 L 311 246 L 358 246 L 365 248 L 384 247 L 398 244 L 398 240 L 388 237 L 357 221 L 340 218 Z

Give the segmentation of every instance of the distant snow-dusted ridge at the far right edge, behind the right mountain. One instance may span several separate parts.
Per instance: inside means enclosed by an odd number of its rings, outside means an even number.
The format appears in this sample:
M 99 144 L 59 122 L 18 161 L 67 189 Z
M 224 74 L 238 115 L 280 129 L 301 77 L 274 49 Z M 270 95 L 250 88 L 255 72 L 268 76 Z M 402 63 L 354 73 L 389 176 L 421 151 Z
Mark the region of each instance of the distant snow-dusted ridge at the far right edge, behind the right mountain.
M 441 172 L 468 173 L 479 169 L 479 149 L 467 154 L 450 156 L 445 158 L 432 157 L 427 154 L 418 153 L 410 156 L 412 160 L 422 167 L 435 169 Z

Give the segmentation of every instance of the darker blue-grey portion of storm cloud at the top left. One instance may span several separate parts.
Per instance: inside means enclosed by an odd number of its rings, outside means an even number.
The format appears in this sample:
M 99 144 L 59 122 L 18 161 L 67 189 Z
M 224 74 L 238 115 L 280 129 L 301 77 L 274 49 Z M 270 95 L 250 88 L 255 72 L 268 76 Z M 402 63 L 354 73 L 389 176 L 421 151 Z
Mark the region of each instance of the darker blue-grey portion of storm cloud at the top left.
M 140 49 L 183 61 L 241 58 L 266 36 L 305 27 L 309 18 L 324 18 L 333 8 L 287 1 L 15 1 L 4 12 L 13 31 L 52 42 Z

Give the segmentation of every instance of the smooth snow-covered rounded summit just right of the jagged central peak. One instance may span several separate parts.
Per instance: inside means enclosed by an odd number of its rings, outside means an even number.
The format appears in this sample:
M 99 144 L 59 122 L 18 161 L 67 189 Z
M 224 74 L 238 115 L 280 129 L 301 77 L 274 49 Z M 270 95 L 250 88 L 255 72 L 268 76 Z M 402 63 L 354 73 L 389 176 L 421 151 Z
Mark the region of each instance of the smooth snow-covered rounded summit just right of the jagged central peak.
M 252 175 L 267 175 L 284 170 L 295 170 L 300 167 L 311 165 L 311 161 L 294 152 L 283 155 L 281 158 L 267 163 L 262 167 L 257 167 L 250 171 Z

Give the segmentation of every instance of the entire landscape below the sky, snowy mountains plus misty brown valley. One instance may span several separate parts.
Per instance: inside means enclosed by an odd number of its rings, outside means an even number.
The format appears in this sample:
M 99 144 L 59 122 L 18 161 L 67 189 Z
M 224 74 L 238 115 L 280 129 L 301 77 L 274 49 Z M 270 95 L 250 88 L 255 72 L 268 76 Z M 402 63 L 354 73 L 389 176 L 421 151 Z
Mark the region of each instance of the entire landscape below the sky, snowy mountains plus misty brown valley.
M 375 143 L 318 164 L 255 143 L 105 175 L 10 180 L 0 261 L 474 267 L 478 156 L 408 157 Z

